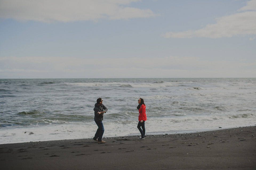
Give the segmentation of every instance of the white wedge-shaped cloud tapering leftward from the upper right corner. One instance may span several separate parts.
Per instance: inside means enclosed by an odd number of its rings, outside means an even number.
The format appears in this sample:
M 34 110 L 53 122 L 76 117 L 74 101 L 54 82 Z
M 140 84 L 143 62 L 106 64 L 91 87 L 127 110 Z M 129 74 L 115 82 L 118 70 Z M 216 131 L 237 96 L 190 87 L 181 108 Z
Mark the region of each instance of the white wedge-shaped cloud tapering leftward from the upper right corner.
M 183 32 L 166 32 L 161 36 L 165 38 L 222 38 L 239 35 L 255 35 L 256 0 L 248 1 L 247 5 L 242 7 L 238 11 L 244 12 L 216 18 L 217 23 L 207 24 L 205 27 L 199 30 L 187 30 Z

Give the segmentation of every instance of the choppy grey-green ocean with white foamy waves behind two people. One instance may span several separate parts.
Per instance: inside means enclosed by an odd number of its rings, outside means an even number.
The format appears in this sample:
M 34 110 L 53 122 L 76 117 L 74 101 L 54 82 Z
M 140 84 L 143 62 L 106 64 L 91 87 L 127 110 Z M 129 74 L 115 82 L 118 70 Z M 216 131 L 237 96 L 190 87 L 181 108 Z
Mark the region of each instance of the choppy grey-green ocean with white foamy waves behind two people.
M 0 79 L 0 144 L 93 138 L 101 97 L 104 137 L 254 126 L 256 78 Z

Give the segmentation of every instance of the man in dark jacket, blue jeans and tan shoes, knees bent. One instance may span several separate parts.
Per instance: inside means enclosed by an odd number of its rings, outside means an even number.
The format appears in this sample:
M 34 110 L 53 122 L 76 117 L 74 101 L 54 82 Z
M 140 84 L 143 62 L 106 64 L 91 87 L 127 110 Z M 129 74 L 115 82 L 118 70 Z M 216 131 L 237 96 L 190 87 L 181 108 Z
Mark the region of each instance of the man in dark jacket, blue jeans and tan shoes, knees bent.
M 98 141 L 98 143 L 106 142 L 102 140 L 102 136 L 104 133 L 104 126 L 102 123 L 103 114 L 107 112 L 107 107 L 102 104 L 102 99 L 98 98 L 97 103 L 95 103 L 94 107 L 94 121 L 98 126 L 98 129 L 95 133 L 93 140 Z

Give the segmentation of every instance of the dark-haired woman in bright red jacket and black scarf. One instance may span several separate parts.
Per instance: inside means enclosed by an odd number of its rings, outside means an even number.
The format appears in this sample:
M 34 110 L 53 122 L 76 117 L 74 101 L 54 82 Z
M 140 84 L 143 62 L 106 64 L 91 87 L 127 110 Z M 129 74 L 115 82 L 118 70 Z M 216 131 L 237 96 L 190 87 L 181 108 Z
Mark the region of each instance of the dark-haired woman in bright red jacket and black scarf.
M 139 129 L 139 132 L 141 132 L 141 137 L 139 138 L 139 140 L 141 140 L 145 139 L 145 121 L 147 120 L 147 116 L 144 100 L 142 98 L 139 98 L 138 103 L 139 105 L 137 106 L 137 109 L 139 110 L 139 123 L 137 128 Z

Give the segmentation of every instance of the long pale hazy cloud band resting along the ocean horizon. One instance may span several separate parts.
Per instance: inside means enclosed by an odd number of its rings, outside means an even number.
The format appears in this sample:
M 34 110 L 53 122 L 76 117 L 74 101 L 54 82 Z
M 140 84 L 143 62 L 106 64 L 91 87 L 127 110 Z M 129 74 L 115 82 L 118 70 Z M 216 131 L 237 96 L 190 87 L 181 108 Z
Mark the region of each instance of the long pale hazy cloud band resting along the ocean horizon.
M 99 60 L 102 65 L 97 64 Z M 0 78 L 255 77 L 256 60 L 207 61 L 198 57 L 3 57 Z

